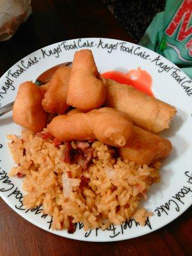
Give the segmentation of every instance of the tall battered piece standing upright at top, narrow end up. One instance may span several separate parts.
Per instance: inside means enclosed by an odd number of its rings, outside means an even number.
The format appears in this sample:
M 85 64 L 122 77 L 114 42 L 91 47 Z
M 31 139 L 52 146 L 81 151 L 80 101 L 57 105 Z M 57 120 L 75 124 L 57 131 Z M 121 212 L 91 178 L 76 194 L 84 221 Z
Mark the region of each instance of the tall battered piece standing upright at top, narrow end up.
M 105 99 L 106 82 L 100 79 L 92 51 L 77 51 L 68 83 L 67 104 L 87 112 L 100 108 Z

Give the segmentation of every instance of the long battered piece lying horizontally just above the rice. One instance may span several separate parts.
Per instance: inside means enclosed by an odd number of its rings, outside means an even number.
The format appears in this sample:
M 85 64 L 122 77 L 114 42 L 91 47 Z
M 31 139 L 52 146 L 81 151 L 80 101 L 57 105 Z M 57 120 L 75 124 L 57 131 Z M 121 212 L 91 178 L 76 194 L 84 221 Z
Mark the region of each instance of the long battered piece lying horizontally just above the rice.
M 88 113 L 56 116 L 48 125 L 48 131 L 60 141 L 97 139 L 122 147 L 132 139 L 133 125 L 127 114 L 101 108 Z

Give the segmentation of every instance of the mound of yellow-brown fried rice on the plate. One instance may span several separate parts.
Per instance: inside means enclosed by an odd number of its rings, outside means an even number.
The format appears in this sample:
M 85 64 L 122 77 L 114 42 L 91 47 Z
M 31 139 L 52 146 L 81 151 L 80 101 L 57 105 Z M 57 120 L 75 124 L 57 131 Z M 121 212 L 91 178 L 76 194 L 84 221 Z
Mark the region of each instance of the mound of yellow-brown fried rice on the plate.
M 44 131 L 46 134 L 46 130 Z M 159 181 L 161 163 L 143 166 L 123 160 L 113 148 L 100 141 L 90 143 L 93 158 L 86 168 L 66 163 L 67 144 L 54 138 L 22 131 L 8 135 L 8 143 L 17 166 L 10 176 L 23 177 L 24 206 L 42 205 L 44 214 L 52 216 L 53 229 L 66 229 L 81 222 L 84 230 L 105 229 L 134 218 L 145 224 L 152 212 L 138 208 L 141 198 L 153 182 Z M 76 142 L 70 143 L 76 150 Z

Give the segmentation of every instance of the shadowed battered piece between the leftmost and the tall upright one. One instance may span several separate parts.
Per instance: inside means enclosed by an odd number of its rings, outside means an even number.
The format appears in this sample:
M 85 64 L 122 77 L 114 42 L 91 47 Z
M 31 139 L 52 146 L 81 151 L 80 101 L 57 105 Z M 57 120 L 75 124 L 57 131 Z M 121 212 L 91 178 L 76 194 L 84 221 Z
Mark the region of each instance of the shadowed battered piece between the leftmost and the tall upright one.
M 52 76 L 42 100 L 42 106 L 46 112 L 63 114 L 68 109 L 66 100 L 70 72 L 70 67 L 61 66 Z

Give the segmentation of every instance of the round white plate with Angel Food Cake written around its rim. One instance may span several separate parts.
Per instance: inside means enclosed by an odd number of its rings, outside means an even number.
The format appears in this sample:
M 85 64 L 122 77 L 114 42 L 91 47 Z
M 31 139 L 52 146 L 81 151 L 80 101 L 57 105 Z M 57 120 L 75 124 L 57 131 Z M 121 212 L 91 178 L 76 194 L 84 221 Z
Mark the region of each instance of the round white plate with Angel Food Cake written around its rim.
M 173 63 L 144 47 L 107 38 L 81 38 L 49 45 L 13 65 L 0 79 L 0 104 L 4 106 L 15 99 L 20 83 L 35 81 L 47 68 L 72 61 L 74 52 L 83 48 L 92 50 L 99 72 L 127 71 L 137 67 L 147 70 L 152 76 L 152 90 L 156 97 L 177 108 L 172 127 L 162 134 L 172 141 L 173 152 L 161 168 L 161 182 L 152 185 L 148 199 L 141 202 L 154 216 L 145 227 L 129 220 L 124 225 L 111 225 L 105 231 L 84 232 L 80 224 L 77 224 L 74 234 L 68 234 L 66 230 L 51 230 L 51 218 L 42 214 L 41 207 L 30 211 L 24 209 L 22 180 L 8 177 L 14 163 L 8 151 L 6 134 L 20 134 L 20 127 L 13 124 L 12 113 L 0 118 L 0 195 L 20 216 L 59 236 L 84 241 L 118 241 L 142 236 L 175 220 L 191 205 L 192 83 L 189 77 Z

